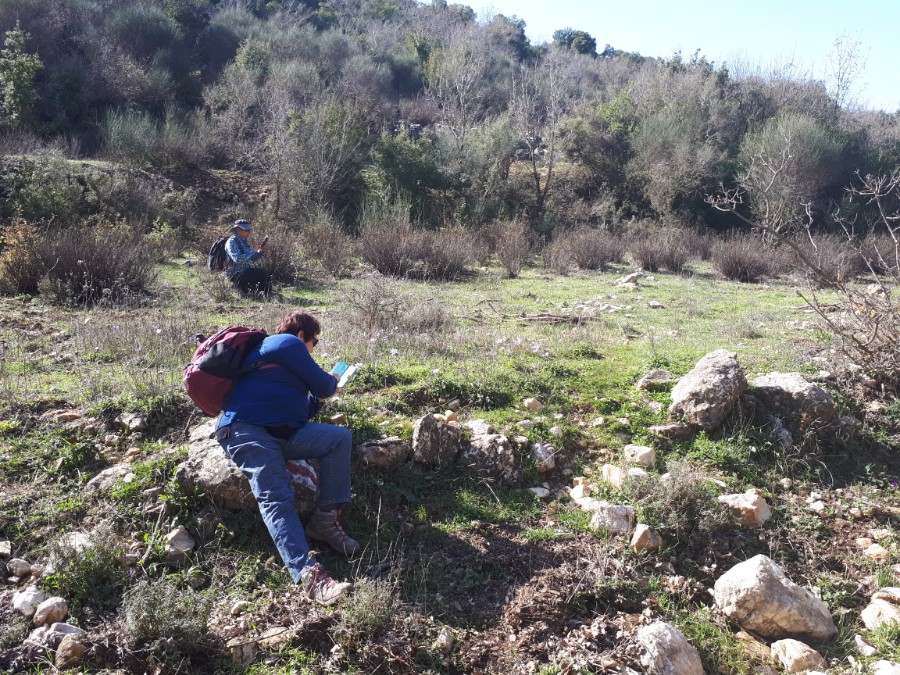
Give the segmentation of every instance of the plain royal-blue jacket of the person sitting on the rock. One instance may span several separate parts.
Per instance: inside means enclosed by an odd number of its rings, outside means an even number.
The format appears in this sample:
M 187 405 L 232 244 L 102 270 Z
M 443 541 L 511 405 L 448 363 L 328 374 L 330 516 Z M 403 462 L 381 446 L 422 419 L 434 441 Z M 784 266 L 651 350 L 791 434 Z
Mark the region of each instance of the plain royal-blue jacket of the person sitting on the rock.
M 238 380 L 216 428 L 232 422 L 299 428 L 318 412 L 318 399 L 337 389 L 296 335 L 270 335 L 247 353 L 244 367 L 259 361 L 264 363 Z

